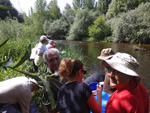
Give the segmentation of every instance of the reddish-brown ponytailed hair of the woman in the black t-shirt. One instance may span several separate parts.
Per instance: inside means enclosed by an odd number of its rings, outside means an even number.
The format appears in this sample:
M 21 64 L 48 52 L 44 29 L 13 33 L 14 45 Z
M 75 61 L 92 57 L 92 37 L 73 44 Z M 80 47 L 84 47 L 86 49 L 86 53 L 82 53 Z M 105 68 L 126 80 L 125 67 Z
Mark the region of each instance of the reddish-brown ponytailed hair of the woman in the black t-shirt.
M 59 66 L 60 80 L 75 76 L 76 71 L 83 69 L 83 63 L 78 59 L 64 58 Z

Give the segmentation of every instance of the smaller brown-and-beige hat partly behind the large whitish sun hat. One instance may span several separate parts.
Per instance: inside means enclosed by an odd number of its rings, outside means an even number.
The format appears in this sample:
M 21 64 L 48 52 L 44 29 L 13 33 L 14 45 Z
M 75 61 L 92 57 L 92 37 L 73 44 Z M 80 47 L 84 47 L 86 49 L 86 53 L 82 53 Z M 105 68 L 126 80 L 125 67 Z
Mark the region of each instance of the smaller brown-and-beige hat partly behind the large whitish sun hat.
M 110 59 L 115 53 L 113 52 L 112 48 L 106 48 L 101 51 L 100 56 L 97 58 L 100 60 L 107 60 Z

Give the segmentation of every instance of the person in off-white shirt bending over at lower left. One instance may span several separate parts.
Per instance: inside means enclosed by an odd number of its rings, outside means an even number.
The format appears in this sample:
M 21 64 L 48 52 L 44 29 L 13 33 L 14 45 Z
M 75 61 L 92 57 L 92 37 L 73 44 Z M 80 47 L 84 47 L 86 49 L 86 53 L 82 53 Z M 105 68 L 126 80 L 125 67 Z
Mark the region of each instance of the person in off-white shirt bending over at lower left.
M 37 82 L 27 77 L 0 82 L 0 113 L 29 113 L 32 91 L 38 89 Z

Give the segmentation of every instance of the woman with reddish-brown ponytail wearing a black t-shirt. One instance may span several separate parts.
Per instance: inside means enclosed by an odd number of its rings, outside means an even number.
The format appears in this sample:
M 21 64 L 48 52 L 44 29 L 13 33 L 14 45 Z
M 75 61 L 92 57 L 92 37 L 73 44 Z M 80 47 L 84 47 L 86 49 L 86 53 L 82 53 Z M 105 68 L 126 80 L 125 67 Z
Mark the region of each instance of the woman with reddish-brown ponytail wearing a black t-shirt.
M 94 99 L 89 86 L 82 82 L 86 71 L 78 59 L 65 58 L 59 67 L 60 80 L 68 81 L 58 91 L 58 108 L 60 113 L 93 113 L 101 112 L 102 88 L 97 85 L 98 99 Z

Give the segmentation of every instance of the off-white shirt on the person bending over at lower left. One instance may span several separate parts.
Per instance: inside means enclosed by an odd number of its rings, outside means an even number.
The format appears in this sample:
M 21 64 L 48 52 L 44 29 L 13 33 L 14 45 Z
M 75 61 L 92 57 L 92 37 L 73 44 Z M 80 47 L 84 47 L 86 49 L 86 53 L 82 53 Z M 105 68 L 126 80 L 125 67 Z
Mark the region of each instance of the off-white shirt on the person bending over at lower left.
M 27 77 L 15 77 L 0 82 L 0 103 L 19 103 L 22 113 L 29 113 L 31 84 Z

